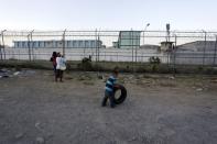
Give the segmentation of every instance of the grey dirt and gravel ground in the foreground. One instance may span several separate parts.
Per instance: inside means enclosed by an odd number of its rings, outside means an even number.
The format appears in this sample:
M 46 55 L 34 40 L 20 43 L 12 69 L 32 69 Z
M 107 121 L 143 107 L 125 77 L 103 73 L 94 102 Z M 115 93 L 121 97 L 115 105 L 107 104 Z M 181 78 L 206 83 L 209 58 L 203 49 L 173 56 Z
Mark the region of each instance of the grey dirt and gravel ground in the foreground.
M 217 76 L 120 74 L 127 100 L 100 107 L 109 74 L 0 78 L 0 144 L 216 144 Z

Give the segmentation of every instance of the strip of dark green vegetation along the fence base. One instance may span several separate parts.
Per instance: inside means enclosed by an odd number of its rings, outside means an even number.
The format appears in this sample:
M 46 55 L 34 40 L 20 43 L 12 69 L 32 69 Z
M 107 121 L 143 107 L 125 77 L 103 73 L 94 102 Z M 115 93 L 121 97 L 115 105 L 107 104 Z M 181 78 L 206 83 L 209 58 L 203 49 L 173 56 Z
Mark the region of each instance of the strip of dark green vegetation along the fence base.
M 120 73 L 159 73 L 159 74 L 207 74 L 217 75 L 217 68 L 211 66 L 193 66 L 193 65 L 173 65 L 162 64 L 158 57 L 150 58 L 149 63 L 131 63 L 131 62 L 91 62 L 90 59 L 83 59 L 82 62 L 67 62 L 67 70 L 82 71 L 111 71 L 116 66 L 119 67 Z M 1 60 L 0 67 L 11 67 L 15 70 L 22 68 L 34 69 L 53 69 L 52 63 L 48 60 Z

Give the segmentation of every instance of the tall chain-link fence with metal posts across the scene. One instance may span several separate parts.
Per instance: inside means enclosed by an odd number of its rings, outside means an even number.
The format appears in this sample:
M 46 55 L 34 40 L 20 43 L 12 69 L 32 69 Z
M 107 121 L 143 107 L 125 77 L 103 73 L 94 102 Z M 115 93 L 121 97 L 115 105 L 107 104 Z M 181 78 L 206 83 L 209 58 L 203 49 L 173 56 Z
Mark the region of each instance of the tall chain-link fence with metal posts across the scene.
M 217 32 L 206 31 L 1 31 L 0 58 L 50 59 L 61 52 L 67 60 L 216 66 Z

